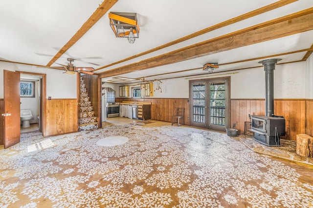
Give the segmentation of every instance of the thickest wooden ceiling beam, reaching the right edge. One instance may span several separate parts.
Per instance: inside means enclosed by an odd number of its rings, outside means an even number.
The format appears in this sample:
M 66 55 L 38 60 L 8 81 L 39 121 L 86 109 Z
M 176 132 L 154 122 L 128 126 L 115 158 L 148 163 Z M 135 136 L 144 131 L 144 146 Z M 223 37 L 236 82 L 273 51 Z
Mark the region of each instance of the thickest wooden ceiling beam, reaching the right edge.
M 313 7 L 100 74 L 101 78 L 208 56 L 313 29 Z

